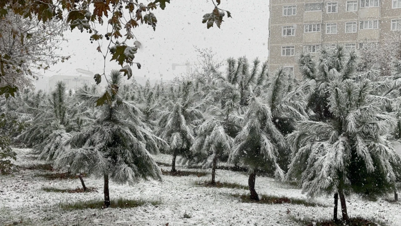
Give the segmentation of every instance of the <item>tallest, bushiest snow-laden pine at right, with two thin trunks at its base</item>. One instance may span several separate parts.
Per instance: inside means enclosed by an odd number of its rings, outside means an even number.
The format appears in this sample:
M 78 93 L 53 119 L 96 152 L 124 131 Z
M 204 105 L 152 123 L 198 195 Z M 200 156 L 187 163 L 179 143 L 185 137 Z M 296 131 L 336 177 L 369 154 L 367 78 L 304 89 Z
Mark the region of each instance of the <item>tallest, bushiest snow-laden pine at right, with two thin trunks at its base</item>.
M 340 45 L 322 47 L 318 63 L 310 54 L 301 54 L 301 72 L 318 83 L 310 105 L 316 121 L 298 121 L 296 131 L 287 136 L 292 148 L 287 177 L 298 178 L 309 197 L 338 193 L 344 221 L 349 220 L 346 196 L 377 197 L 393 191 L 401 163 L 388 139 L 396 120 L 372 95 L 375 82 L 351 79 L 358 77 L 357 59 L 356 51 L 346 56 Z

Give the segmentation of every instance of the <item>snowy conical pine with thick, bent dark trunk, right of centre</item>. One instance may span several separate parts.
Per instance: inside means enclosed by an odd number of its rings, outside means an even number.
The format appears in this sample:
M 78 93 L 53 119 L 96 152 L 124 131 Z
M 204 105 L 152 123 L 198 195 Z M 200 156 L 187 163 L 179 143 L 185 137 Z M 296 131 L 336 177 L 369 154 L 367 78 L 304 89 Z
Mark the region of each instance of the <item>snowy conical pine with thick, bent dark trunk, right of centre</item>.
M 262 103 L 259 97 L 250 97 L 248 110 L 243 115 L 243 128 L 235 137 L 235 146 L 230 153 L 229 162 L 239 160 L 247 166 L 248 185 L 251 199 L 259 200 L 255 190 L 258 169 L 271 171 L 276 179 L 284 179 L 284 171 L 278 164 L 279 150 L 286 150 L 286 140 L 272 122 L 270 107 Z

